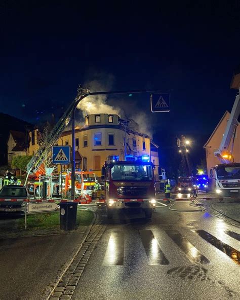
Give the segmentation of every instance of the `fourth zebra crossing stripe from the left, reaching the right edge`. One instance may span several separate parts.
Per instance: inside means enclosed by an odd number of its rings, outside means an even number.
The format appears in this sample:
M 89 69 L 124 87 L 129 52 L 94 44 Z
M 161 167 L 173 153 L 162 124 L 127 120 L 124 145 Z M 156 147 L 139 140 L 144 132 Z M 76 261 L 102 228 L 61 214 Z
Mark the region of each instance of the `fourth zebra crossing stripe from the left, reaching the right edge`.
M 222 251 L 223 253 L 227 254 L 236 264 L 240 265 L 240 252 L 236 249 L 232 248 L 231 246 L 223 243 L 219 239 L 212 236 L 205 230 L 196 230 L 195 231 L 201 238 L 205 241 Z

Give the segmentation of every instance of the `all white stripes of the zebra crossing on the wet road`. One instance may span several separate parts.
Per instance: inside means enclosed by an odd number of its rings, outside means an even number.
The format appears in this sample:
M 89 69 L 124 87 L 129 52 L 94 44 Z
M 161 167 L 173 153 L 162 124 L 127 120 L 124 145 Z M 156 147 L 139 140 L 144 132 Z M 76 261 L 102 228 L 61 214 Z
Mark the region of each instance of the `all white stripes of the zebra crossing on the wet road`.
M 167 237 L 175 243 L 180 251 L 185 254 L 190 262 L 201 265 L 210 264 L 210 260 L 195 246 L 193 246 L 190 239 L 186 238 L 179 231 L 166 229 L 164 232 L 166 233 Z M 205 230 L 191 230 L 191 232 L 201 237 L 204 243 L 209 243 L 211 247 L 215 247 L 222 251 L 237 265 L 240 265 L 240 251 L 222 242 L 220 239 Z M 240 240 L 240 235 L 233 231 L 224 231 L 224 234 L 228 235 L 234 240 Z M 151 230 L 139 230 L 138 239 L 140 239 L 145 251 L 148 265 L 161 266 L 169 265 L 171 263 L 168 253 L 164 253 L 163 249 L 161 248 L 161 242 L 156 239 Z M 106 252 L 102 261 L 103 266 L 124 265 L 125 256 L 128 255 L 128 248 L 126 247 L 125 240 L 126 236 L 123 230 L 112 230 L 110 232 Z

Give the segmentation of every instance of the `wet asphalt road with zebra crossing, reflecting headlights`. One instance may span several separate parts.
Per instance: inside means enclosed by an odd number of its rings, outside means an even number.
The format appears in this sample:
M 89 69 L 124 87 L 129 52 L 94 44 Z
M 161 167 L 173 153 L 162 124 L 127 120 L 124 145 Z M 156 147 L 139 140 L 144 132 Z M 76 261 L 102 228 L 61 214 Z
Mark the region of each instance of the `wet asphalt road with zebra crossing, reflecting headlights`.
M 102 219 L 107 229 L 72 299 L 240 298 L 239 228 L 207 211 L 168 207 L 151 221 Z

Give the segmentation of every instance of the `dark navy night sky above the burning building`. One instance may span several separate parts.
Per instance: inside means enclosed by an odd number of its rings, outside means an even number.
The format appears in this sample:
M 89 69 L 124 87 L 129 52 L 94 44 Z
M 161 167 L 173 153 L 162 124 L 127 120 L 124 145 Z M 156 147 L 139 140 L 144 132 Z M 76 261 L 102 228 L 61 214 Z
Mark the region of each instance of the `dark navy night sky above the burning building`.
M 163 165 L 180 134 L 193 140 L 197 162 L 234 102 L 240 2 L 49 3 L 2 4 L 0 111 L 32 123 L 58 118 L 78 84 L 92 80 L 111 90 L 169 92 L 168 114 L 150 113 L 147 95 L 107 103 L 127 116 L 146 114 Z

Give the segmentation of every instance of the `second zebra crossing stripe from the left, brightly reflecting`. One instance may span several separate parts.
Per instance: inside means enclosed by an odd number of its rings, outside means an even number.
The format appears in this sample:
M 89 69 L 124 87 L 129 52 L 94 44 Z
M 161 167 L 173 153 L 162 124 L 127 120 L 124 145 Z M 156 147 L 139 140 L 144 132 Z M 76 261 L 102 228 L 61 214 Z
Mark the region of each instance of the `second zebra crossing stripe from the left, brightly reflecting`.
M 149 260 L 149 265 L 168 265 L 169 261 L 165 257 L 164 252 L 158 245 L 156 238 L 154 237 L 151 230 L 140 230 L 139 231 L 141 240 Z

